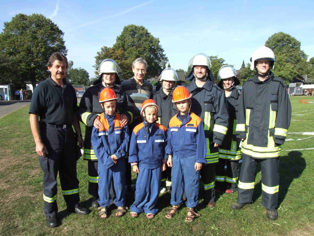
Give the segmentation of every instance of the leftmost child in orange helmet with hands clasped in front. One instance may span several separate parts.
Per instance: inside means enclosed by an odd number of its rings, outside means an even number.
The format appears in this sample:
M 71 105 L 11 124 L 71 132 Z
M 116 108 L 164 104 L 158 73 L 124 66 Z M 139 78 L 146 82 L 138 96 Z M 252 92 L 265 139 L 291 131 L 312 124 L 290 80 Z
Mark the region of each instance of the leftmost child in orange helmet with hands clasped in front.
M 92 144 L 98 164 L 98 207 L 99 217 L 106 219 L 107 206 L 111 203 L 110 187 L 113 183 L 113 203 L 118 207 L 116 217 L 123 216 L 125 205 L 125 154 L 128 149 L 129 131 L 127 125 L 120 123 L 116 113 L 116 93 L 111 88 L 100 92 L 99 102 L 104 109 L 100 114 L 102 128 L 93 127 Z

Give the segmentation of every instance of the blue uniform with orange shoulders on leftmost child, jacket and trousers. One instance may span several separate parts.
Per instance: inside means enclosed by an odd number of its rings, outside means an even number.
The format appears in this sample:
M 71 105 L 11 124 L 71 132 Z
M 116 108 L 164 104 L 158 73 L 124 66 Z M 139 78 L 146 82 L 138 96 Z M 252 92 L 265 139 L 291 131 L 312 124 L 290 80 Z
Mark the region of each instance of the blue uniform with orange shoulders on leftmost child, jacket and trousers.
M 125 154 L 128 149 L 129 130 L 127 125 L 120 124 L 120 114 L 100 115 L 102 128 L 93 127 L 92 145 L 99 162 L 98 165 L 98 203 L 106 207 L 110 205 L 110 187 L 113 182 L 113 203 L 116 206 L 125 205 Z M 111 155 L 116 155 L 114 164 Z

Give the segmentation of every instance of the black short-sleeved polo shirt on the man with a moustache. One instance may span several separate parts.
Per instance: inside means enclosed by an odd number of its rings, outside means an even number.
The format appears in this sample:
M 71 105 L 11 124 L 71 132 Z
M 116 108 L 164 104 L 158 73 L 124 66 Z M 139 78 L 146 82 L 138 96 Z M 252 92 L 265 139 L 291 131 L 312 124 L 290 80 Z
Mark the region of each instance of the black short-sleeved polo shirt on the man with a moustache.
M 75 89 L 63 79 L 63 88 L 51 76 L 39 83 L 32 96 L 29 113 L 53 125 L 72 125 L 73 112 L 78 110 Z

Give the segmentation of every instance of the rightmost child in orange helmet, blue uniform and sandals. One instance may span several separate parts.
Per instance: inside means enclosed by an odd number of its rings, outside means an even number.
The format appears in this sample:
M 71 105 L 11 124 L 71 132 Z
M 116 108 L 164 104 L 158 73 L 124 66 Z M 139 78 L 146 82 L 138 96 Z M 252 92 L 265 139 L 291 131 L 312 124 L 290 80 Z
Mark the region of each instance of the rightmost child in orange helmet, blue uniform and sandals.
M 167 164 L 172 167 L 171 205 L 166 209 L 165 217 L 173 218 L 183 202 L 183 192 L 187 195 L 187 216 L 184 221 L 192 222 L 200 214 L 194 211 L 198 204 L 199 177 L 203 164 L 206 164 L 206 144 L 203 122 L 200 117 L 190 112 L 191 93 L 179 86 L 173 91 L 172 102 L 178 114 L 169 122 L 169 137 L 166 154 Z

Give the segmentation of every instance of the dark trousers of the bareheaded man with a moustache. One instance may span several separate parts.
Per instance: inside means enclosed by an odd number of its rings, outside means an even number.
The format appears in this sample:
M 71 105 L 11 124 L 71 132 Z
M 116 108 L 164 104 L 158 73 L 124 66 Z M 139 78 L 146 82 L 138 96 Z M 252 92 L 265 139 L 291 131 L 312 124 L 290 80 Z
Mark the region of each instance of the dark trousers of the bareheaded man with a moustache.
M 44 172 L 44 211 L 46 216 L 57 215 L 57 175 L 59 172 L 63 198 L 68 208 L 79 202 L 74 132 L 67 129 L 41 127 L 41 139 L 47 148 L 46 157 L 39 156 Z

